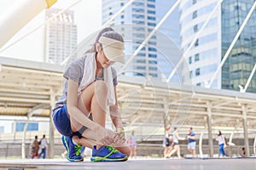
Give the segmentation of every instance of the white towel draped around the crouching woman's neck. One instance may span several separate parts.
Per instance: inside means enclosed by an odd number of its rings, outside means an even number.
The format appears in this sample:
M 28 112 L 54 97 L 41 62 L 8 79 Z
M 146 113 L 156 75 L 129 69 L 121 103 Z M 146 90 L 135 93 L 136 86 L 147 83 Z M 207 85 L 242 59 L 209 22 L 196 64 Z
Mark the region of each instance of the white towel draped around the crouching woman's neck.
M 91 82 L 95 82 L 96 80 L 96 54 L 90 53 L 86 54 L 84 61 L 84 75 L 82 81 L 79 85 L 79 94 L 84 88 L 87 88 Z M 111 67 L 103 69 L 103 77 L 104 81 L 108 86 L 108 98 L 107 105 L 115 105 L 115 97 L 113 91 L 113 74 L 111 71 Z

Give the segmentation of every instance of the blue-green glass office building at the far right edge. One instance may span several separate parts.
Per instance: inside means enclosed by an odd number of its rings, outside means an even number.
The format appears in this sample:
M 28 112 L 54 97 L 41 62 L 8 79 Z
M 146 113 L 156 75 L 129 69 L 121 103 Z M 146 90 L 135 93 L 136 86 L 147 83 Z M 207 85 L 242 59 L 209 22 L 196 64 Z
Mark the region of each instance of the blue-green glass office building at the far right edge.
M 230 47 L 236 32 L 252 8 L 253 0 L 226 0 L 222 4 L 222 56 Z M 256 13 L 248 20 L 240 37 L 222 69 L 222 88 L 239 90 L 245 86 L 256 62 Z M 256 76 L 254 75 L 247 92 L 256 93 Z

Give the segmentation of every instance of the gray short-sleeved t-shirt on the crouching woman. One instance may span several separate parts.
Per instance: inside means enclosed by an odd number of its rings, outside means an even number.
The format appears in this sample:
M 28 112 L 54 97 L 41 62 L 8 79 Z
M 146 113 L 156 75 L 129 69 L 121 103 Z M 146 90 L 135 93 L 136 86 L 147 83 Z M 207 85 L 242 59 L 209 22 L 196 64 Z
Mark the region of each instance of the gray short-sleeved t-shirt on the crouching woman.
M 83 57 L 76 59 L 73 61 L 71 65 L 67 68 L 67 70 L 64 72 L 63 77 L 66 78 L 66 82 L 63 88 L 63 93 L 61 95 L 61 98 L 57 101 L 55 104 L 55 108 L 52 111 L 52 115 L 55 115 L 55 112 L 61 109 L 63 105 L 67 105 L 67 87 L 68 87 L 68 79 L 70 78 L 74 82 L 80 82 L 82 81 L 82 78 L 84 76 L 84 62 L 85 58 L 88 54 L 85 54 Z M 94 53 L 95 55 L 95 53 Z M 118 84 L 117 82 L 117 73 L 113 67 L 111 67 L 112 76 L 113 76 L 113 86 L 116 86 Z M 99 78 L 97 77 L 96 80 Z

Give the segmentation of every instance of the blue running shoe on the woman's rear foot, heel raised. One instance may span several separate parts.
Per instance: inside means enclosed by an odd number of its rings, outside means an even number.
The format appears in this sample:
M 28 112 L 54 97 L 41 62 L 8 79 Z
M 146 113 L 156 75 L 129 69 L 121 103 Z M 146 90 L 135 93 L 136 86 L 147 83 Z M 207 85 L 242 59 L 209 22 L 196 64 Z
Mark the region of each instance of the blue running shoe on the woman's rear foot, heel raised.
M 62 144 L 64 144 L 67 150 L 67 160 L 68 161 L 84 161 L 84 157 L 81 156 L 81 149 L 83 146 L 73 144 L 70 137 L 61 136 Z

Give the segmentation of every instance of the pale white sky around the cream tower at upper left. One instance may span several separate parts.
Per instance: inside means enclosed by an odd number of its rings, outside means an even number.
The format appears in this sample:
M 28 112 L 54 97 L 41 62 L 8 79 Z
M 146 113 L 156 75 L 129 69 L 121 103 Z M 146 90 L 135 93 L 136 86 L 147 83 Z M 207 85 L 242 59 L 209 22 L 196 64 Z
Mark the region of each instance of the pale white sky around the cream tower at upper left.
M 30 0 L 22 0 L 30 1 Z M 13 4 L 19 4 L 20 0 L 1 0 L 0 1 L 0 16 L 3 16 L 7 11 L 15 13 L 15 6 Z M 99 30 L 102 26 L 102 0 L 57 0 L 52 8 L 67 8 L 73 3 L 79 2 L 71 8 L 74 10 L 75 23 L 78 26 L 78 40 L 81 42 L 85 37 L 88 37 L 91 33 Z M 26 10 L 26 9 L 25 9 Z M 19 17 L 17 17 L 18 19 Z M 0 26 L 3 18 L 0 17 Z M 8 47 L 11 43 L 15 42 L 13 46 L 0 52 L 0 56 L 28 59 L 34 61 L 43 61 L 44 59 L 44 26 L 40 27 L 37 31 L 34 31 L 29 36 L 23 38 L 19 42 L 16 42 L 20 37 L 23 37 L 27 33 L 31 32 L 38 26 L 44 23 L 44 10 L 36 15 L 29 23 L 26 24 L 20 31 L 18 31 L 14 37 L 9 39 L 3 48 Z M 0 51 L 3 50 L 0 49 Z

